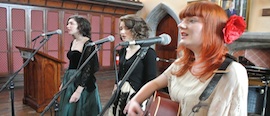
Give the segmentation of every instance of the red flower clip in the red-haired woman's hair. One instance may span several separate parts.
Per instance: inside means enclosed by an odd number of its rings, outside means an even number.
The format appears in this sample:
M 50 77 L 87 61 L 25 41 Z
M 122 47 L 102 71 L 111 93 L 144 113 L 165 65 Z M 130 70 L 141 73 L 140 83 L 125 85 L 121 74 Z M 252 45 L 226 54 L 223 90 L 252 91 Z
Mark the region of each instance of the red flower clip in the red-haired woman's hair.
M 245 29 L 246 23 L 242 17 L 237 15 L 231 16 L 222 30 L 225 43 L 230 44 L 237 40 L 243 34 Z

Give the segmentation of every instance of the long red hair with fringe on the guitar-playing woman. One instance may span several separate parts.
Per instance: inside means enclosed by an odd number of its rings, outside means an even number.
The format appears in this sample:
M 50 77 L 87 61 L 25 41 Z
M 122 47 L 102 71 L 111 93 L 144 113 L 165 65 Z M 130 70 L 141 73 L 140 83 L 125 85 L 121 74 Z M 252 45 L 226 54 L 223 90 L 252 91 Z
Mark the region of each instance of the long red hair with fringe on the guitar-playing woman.
M 228 52 L 222 33 L 222 29 L 228 20 L 226 12 L 215 3 L 202 1 L 187 5 L 179 14 L 180 19 L 192 16 L 200 17 L 203 22 L 203 42 L 200 58 L 194 62 L 193 52 L 185 46 L 178 46 L 177 52 L 181 53 L 181 58 L 176 63 L 182 65 L 182 67 L 177 72 L 173 72 L 176 76 L 183 75 L 194 64 L 202 62 L 204 62 L 204 65 L 201 70 L 193 75 L 202 77 L 213 73 L 221 65 L 222 58 Z

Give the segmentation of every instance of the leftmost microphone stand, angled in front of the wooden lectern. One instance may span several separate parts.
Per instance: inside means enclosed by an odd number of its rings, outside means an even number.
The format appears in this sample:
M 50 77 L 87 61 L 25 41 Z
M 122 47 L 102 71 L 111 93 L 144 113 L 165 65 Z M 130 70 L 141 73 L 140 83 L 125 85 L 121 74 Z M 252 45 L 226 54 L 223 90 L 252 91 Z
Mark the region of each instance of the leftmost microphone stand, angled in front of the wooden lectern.
M 40 36 L 38 36 L 40 37 Z M 38 37 L 36 37 L 35 39 L 37 39 Z M 19 70 L 17 70 L 15 73 L 13 73 L 9 79 L 7 80 L 7 82 L 1 87 L 0 92 L 2 92 L 2 90 L 4 90 L 4 88 L 7 87 L 7 85 L 9 84 L 9 89 L 10 89 L 10 99 L 11 99 L 11 114 L 12 116 L 15 116 L 15 112 L 14 112 L 14 83 L 13 83 L 13 79 L 15 78 L 15 76 L 17 76 L 19 74 L 19 72 L 28 65 L 28 63 L 30 62 L 30 60 L 34 57 L 34 55 L 39 51 L 39 49 L 41 47 L 44 46 L 44 44 L 50 39 L 51 36 L 47 36 L 47 38 L 44 38 L 44 41 L 40 44 L 40 46 L 35 49 L 35 51 L 27 58 L 27 60 L 23 63 L 23 65 L 20 67 Z

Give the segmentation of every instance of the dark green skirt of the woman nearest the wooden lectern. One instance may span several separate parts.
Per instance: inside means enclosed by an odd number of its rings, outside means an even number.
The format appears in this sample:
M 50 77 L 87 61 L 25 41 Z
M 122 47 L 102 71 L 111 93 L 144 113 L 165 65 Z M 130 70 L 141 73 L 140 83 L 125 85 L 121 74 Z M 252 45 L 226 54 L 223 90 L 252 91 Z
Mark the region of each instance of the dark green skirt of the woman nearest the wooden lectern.
M 69 69 L 65 72 L 62 81 L 63 86 L 75 72 L 76 70 L 74 69 Z M 71 82 L 67 89 L 60 95 L 59 116 L 97 116 L 101 112 L 101 102 L 97 85 L 96 89 L 90 93 L 84 89 L 79 101 L 76 103 L 69 103 L 69 99 L 76 89 L 77 87 L 74 86 L 74 82 Z

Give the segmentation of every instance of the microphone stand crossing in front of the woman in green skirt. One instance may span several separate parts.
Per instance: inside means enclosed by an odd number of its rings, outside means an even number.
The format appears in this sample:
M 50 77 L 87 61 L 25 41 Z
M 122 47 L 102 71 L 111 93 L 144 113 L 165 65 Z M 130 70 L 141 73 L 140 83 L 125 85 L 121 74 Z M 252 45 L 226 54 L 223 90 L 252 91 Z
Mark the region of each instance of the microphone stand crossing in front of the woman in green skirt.
M 80 66 L 80 68 L 73 74 L 70 78 L 70 80 L 62 87 L 60 91 L 58 91 L 51 102 L 44 108 L 43 112 L 40 114 L 41 116 L 44 116 L 44 114 L 50 109 L 50 107 L 55 103 L 56 104 L 56 112 L 58 111 L 58 104 L 57 104 L 57 98 L 62 94 L 64 90 L 67 89 L 68 85 L 76 78 L 77 74 L 82 70 L 82 68 L 88 63 L 88 61 L 99 51 L 101 48 L 102 44 L 98 44 L 96 49 L 90 54 L 90 56 L 84 61 L 84 63 Z

